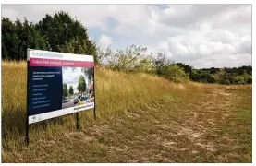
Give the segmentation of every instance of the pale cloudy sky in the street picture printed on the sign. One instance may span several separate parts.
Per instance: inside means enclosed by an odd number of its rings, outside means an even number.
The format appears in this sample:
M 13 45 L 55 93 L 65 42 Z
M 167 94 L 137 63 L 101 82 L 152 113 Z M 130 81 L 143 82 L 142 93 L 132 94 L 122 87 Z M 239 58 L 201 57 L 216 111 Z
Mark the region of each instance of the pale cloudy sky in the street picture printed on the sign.
M 62 78 L 63 83 L 67 84 L 67 89 L 69 89 L 69 86 L 72 86 L 74 89 L 74 93 L 78 93 L 78 82 L 79 77 L 83 76 L 86 82 L 86 85 L 88 87 L 88 77 L 84 75 L 83 72 L 81 72 L 81 67 L 62 67 Z

